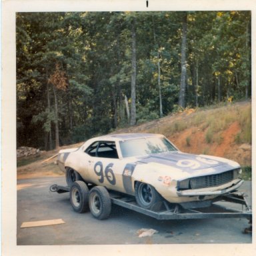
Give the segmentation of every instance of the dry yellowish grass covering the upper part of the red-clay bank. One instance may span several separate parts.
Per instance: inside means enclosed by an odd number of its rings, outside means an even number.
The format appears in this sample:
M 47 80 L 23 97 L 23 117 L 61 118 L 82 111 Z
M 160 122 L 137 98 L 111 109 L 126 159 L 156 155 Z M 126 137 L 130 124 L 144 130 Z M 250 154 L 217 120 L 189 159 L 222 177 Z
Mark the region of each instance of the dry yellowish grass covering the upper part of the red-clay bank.
M 163 125 L 159 125 L 157 131 L 152 127 L 150 132 L 172 136 L 175 133 L 181 133 L 193 127 L 192 133 L 196 133 L 199 129 L 205 131 L 204 136 L 207 144 L 217 143 L 221 145 L 224 139 L 221 136 L 223 131 L 232 123 L 238 122 L 241 131 L 235 136 L 235 143 L 251 144 L 251 105 L 214 105 L 197 109 L 190 115 L 186 115 L 185 112 L 181 113 L 181 115 L 183 116 L 180 116 L 180 114 L 177 115 L 179 120 L 174 116 L 171 122 L 169 121 L 163 123 Z M 185 143 L 189 147 L 191 138 L 186 138 Z

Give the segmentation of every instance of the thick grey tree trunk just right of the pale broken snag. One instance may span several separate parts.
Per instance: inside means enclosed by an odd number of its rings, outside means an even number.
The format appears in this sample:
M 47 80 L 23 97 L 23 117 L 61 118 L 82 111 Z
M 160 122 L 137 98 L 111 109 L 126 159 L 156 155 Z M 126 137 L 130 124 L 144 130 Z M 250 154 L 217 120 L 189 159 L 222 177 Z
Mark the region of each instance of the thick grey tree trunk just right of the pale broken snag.
M 131 120 L 130 124 L 136 123 L 136 28 L 135 18 L 131 22 Z

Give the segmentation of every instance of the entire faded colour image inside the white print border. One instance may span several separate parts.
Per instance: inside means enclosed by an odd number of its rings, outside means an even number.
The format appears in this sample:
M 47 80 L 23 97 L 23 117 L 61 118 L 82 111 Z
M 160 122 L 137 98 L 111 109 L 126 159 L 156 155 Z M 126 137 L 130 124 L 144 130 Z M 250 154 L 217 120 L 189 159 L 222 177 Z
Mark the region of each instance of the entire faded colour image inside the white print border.
M 15 24 L 17 245 L 252 243 L 251 11 Z

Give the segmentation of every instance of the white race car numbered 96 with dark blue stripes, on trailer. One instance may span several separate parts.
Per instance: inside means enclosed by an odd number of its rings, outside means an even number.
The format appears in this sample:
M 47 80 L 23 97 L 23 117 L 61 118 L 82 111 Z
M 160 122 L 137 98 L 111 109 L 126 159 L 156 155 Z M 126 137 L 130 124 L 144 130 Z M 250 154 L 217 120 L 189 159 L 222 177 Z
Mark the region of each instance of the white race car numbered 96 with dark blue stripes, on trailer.
M 135 196 L 145 209 L 164 199 L 185 209 L 205 207 L 243 183 L 238 163 L 182 153 L 163 135 L 149 133 L 95 137 L 59 151 L 57 163 L 69 187 L 75 181 L 100 185 Z M 77 189 L 72 196 L 77 199 Z

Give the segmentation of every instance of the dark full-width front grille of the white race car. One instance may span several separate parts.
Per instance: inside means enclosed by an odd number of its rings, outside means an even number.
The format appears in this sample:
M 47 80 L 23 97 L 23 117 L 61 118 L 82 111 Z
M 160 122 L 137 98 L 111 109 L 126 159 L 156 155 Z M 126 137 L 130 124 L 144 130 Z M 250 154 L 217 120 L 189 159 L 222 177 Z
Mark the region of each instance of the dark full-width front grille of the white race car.
M 202 189 L 204 187 L 217 187 L 233 180 L 233 170 L 225 173 L 218 173 L 202 177 L 195 177 L 190 180 L 191 189 Z

